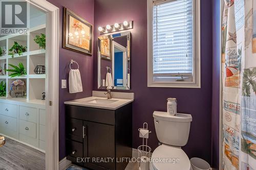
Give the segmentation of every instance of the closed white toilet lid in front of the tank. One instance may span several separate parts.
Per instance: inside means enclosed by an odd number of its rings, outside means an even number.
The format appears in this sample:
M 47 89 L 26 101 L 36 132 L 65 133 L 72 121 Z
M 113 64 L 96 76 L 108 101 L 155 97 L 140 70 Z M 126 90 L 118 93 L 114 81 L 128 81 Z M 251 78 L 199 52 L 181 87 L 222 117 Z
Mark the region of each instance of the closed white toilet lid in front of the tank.
M 190 161 L 181 148 L 162 144 L 152 154 L 152 166 L 155 170 L 190 170 Z

